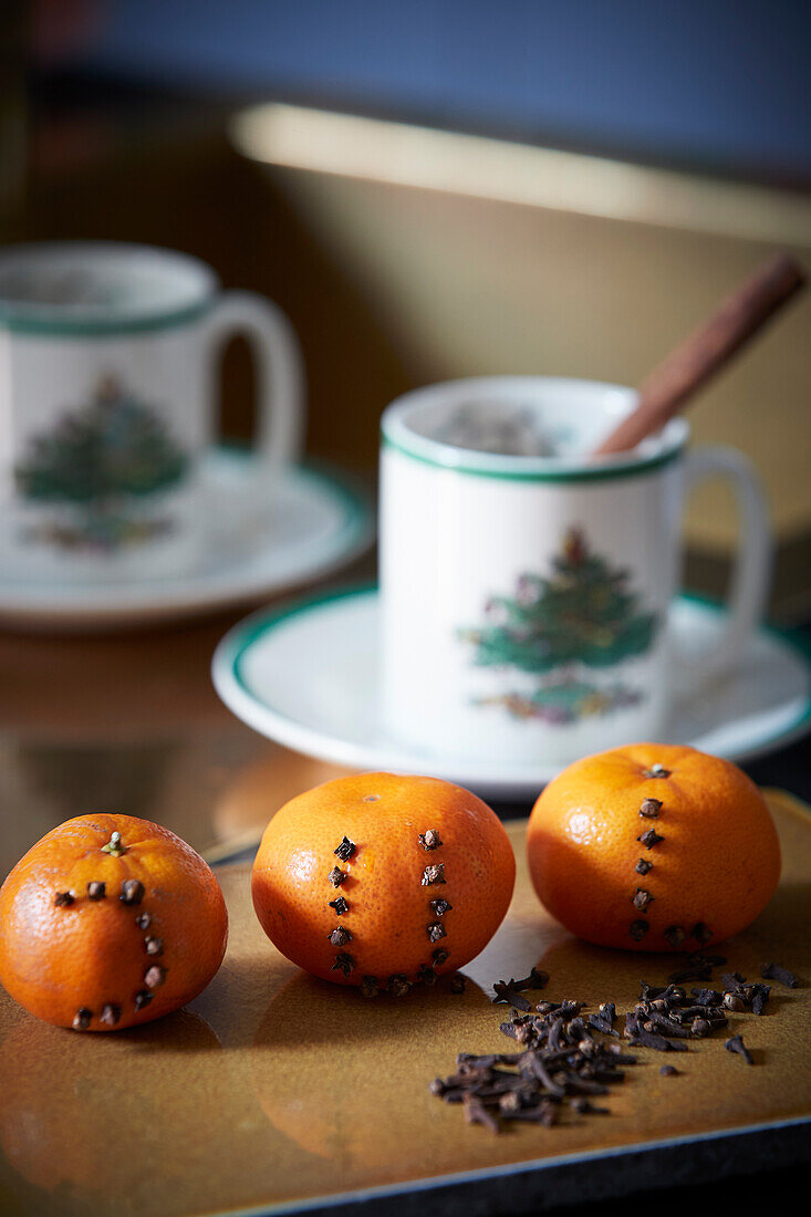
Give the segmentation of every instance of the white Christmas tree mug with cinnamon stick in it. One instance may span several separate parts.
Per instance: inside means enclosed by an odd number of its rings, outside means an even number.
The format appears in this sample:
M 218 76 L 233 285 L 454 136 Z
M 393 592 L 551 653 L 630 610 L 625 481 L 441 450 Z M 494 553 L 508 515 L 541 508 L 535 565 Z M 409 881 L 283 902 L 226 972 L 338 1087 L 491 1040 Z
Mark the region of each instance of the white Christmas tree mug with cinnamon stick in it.
M 460 759 L 567 764 L 655 739 L 673 685 L 667 613 L 681 515 L 698 481 L 723 477 L 740 550 L 721 678 L 764 608 L 771 543 L 759 484 L 732 449 L 687 452 L 673 420 L 632 453 L 592 452 L 634 404 L 630 388 L 498 376 L 407 393 L 384 414 L 380 587 L 387 728 Z M 520 409 L 554 456 L 443 441 L 460 406 Z M 453 430 L 453 428 L 452 428 Z

